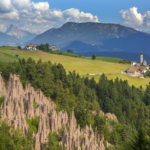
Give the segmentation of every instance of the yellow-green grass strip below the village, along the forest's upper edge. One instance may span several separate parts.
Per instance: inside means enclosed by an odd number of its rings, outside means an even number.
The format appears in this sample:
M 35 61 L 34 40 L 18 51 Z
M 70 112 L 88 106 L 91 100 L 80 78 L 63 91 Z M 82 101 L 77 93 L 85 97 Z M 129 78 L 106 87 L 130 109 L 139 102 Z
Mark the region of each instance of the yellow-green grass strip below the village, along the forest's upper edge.
M 95 79 L 96 82 L 99 81 L 99 78 L 100 76 L 88 76 L 89 79 L 93 78 Z M 132 77 L 132 76 L 129 76 L 127 74 L 120 74 L 120 75 L 107 75 L 107 78 L 109 80 L 113 79 L 115 80 L 116 77 L 118 77 L 119 79 L 122 79 L 122 80 L 128 80 L 128 83 L 130 86 L 134 85 L 135 87 L 140 87 L 142 85 L 142 87 L 145 89 L 146 88 L 146 85 L 149 84 L 150 82 L 150 78 L 136 78 L 136 77 Z

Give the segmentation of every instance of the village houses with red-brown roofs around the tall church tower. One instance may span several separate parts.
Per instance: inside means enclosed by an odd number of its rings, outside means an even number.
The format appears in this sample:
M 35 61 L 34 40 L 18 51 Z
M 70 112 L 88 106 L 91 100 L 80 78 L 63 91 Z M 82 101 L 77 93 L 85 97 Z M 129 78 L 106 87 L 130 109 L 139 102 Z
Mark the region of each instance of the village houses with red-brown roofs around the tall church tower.
M 133 67 L 129 67 L 126 70 L 126 73 L 129 75 L 140 75 L 140 74 L 146 73 L 147 70 L 149 69 L 149 65 L 147 65 L 146 60 L 143 60 L 142 51 L 140 53 L 140 63 L 137 63 L 135 61 L 131 61 L 131 65 Z

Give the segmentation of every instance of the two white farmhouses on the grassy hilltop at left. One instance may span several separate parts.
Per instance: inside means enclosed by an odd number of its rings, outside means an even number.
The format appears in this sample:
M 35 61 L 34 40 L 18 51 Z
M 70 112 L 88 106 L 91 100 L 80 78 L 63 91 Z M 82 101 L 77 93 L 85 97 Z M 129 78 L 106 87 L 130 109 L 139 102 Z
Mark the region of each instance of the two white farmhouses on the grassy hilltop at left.
M 30 50 L 30 51 L 32 51 L 32 50 L 38 50 L 38 47 L 39 47 L 39 45 L 32 44 L 32 43 L 30 43 L 30 44 L 28 44 L 28 45 L 25 46 L 26 50 Z M 51 49 L 52 51 L 58 50 L 57 46 L 55 46 L 55 45 L 50 45 L 49 49 Z

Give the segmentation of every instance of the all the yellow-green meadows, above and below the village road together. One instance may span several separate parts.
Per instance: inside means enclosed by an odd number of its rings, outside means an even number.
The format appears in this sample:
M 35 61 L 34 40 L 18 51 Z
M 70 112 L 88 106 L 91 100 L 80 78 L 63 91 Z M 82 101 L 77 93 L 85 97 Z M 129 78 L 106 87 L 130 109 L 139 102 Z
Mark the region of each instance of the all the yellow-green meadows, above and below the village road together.
M 51 61 L 52 63 L 61 63 L 64 68 L 68 71 L 75 70 L 80 75 L 85 76 L 86 74 L 111 74 L 107 75 L 108 79 L 115 79 L 118 77 L 122 80 L 128 80 L 129 85 L 135 85 L 139 87 L 140 85 L 143 88 L 146 87 L 150 82 L 150 78 L 135 78 L 128 75 L 112 75 L 115 73 L 121 73 L 121 70 L 126 70 L 130 65 L 118 64 L 116 63 L 118 58 L 110 58 L 110 57 L 98 57 L 99 61 L 91 60 L 91 59 L 83 59 L 76 58 L 58 54 L 51 54 L 42 51 L 25 51 L 25 50 L 12 50 L 14 47 L 0 47 L 0 61 L 9 61 L 13 62 L 14 60 L 18 60 L 19 58 L 28 59 L 32 57 L 35 61 L 42 59 L 43 62 Z M 19 55 L 16 57 L 16 55 Z M 85 76 L 86 77 L 86 76 Z M 98 82 L 100 76 L 88 76 L 89 78 L 94 77 Z

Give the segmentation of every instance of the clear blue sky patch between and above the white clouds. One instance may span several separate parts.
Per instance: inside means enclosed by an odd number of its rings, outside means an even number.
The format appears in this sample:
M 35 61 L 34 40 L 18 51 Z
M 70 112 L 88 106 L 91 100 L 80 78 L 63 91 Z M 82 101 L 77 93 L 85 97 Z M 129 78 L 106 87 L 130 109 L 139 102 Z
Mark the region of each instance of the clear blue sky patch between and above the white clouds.
M 40 0 L 34 0 L 40 2 Z M 149 0 L 47 0 L 50 8 L 66 10 L 77 8 L 80 11 L 97 15 L 100 22 L 120 23 L 119 11 L 137 7 L 139 13 L 150 11 Z

